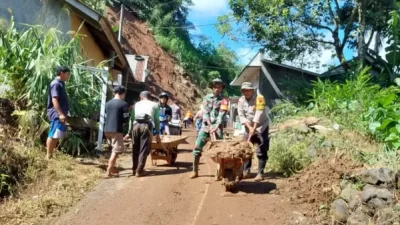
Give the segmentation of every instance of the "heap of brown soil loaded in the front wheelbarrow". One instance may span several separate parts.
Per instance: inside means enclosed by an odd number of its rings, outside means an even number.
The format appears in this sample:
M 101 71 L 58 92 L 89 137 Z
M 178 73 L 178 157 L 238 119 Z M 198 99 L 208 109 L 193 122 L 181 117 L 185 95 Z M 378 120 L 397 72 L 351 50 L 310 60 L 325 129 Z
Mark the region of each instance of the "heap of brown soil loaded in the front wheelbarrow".
M 250 143 L 238 140 L 210 142 L 206 149 L 206 155 L 209 157 L 220 158 L 237 157 L 248 159 L 251 158 L 254 153 L 254 148 Z

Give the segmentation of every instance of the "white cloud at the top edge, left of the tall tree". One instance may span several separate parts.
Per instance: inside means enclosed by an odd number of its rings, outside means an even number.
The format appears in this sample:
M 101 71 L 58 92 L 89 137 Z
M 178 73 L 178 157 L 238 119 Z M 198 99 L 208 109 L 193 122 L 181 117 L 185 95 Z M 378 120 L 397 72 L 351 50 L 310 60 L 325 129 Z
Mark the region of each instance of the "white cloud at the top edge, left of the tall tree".
M 196 17 L 216 17 L 229 10 L 228 0 L 193 0 L 193 4 L 190 9 Z

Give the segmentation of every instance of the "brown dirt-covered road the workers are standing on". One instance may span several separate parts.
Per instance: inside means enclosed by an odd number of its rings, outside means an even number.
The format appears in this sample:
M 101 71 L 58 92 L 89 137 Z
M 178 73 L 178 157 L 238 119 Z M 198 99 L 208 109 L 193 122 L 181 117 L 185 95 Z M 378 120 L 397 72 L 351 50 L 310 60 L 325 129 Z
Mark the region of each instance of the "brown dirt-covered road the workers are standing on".
M 179 146 L 174 167 L 159 162 L 148 177 L 131 177 L 129 155 L 120 162 L 120 178 L 104 180 L 52 224 L 73 225 L 256 225 L 286 224 L 293 214 L 288 198 L 270 194 L 279 180 L 243 181 L 238 193 L 225 193 L 214 181 L 214 163 L 202 157 L 200 177 L 188 179 L 195 132 Z M 161 164 L 161 165 L 160 165 Z

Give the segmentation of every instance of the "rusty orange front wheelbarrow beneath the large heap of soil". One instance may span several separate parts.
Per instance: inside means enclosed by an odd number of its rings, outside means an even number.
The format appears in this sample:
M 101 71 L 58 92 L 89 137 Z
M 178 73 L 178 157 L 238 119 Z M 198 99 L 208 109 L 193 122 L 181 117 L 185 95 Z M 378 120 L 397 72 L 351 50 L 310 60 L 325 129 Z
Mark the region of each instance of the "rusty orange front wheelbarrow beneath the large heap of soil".
M 235 140 L 216 140 L 215 133 L 211 134 L 212 142 L 226 142 L 226 141 L 235 141 Z M 249 158 L 239 158 L 235 156 L 215 156 L 211 157 L 211 159 L 217 163 L 217 169 L 215 173 L 215 180 L 221 181 L 222 185 L 225 188 L 225 191 L 232 191 L 236 184 L 239 183 L 243 178 L 243 165 L 246 163 Z

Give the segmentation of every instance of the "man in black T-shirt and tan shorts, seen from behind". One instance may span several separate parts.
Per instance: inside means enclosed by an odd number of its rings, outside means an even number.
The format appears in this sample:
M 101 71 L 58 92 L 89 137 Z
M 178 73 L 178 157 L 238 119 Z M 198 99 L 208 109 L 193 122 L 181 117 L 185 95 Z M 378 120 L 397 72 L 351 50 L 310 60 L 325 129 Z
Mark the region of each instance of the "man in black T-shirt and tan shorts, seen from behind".
M 104 123 L 104 135 L 111 140 L 112 153 L 108 161 L 105 178 L 118 176 L 115 168 L 118 155 L 123 153 L 124 135 L 123 125 L 129 119 L 129 105 L 124 101 L 126 89 L 122 86 L 114 87 L 114 98 L 106 103 L 106 121 Z

